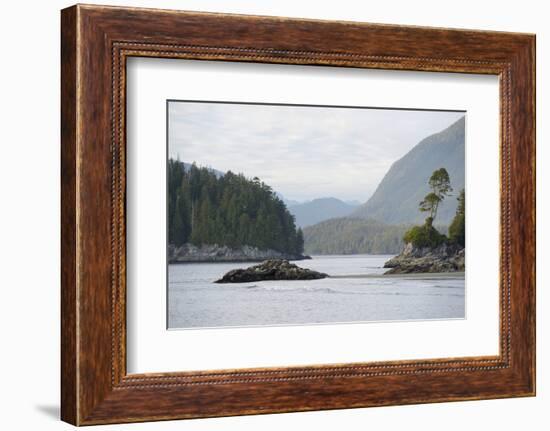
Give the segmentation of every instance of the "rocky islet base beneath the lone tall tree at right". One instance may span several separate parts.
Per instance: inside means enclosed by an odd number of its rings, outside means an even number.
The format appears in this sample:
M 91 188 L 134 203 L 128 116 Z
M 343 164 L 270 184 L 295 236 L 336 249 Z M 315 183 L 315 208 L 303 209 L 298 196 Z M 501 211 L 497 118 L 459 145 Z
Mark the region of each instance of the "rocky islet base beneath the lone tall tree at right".
M 465 250 L 452 243 L 443 243 L 436 248 L 417 248 L 408 243 L 401 254 L 384 264 L 384 268 L 390 268 L 384 274 L 463 272 Z

